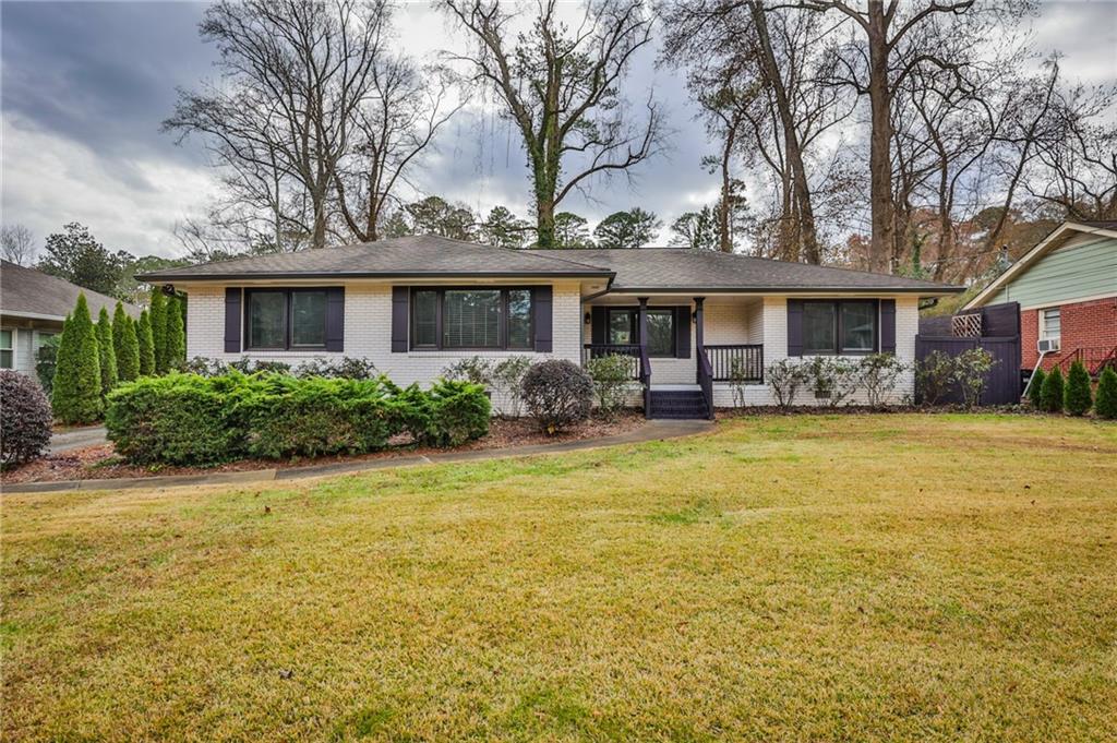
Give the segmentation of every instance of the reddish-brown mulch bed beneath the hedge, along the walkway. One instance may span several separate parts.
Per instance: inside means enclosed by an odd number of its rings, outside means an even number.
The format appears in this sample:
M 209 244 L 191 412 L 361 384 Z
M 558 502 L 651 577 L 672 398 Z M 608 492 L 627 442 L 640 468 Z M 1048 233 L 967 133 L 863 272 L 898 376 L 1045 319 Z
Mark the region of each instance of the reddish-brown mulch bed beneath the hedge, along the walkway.
M 613 420 L 599 418 L 573 428 L 569 431 L 547 436 L 538 429 L 535 421 L 528 418 L 503 419 L 494 418 L 488 436 L 457 447 L 452 451 L 477 451 L 484 449 L 507 449 L 512 447 L 533 446 L 536 444 L 555 444 L 558 441 L 577 441 L 582 439 L 603 438 L 627 434 L 643 425 L 643 415 L 636 411 L 624 411 Z M 354 456 L 300 457 L 287 460 L 275 459 L 241 459 L 213 467 L 140 467 L 130 465 L 116 456 L 112 444 L 70 449 L 59 454 L 48 455 L 41 459 L 29 461 L 20 467 L 0 473 L 0 484 L 17 483 L 50 483 L 73 479 L 113 479 L 120 477 L 152 477 L 164 475 L 209 475 L 213 473 L 249 471 L 254 469 L 287 469 L 290 467 L 308 467 L 311 465 L 331 465 L 374 459 L 392 459 L 414 455 L 430 455 L 450 451 L 451 449 L 435 449 L 431 447 L 412 446 L 407 439 L 400 438 L 393 446 L 383 451 Z

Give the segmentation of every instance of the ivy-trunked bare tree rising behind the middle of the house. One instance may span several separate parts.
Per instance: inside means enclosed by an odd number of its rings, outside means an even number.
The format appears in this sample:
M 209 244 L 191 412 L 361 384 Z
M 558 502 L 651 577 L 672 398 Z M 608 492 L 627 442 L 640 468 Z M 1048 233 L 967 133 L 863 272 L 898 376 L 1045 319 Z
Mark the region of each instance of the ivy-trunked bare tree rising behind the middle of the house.
M 555 207 L 594 177 L 624 173 L 660 149 L 659 106 L 649 97 L 633 122 L 620 87 L 633 56 L 652 41 L 643 0 L 592 0 L 567 26 L 556 0 L 538 0 L 531 32 L 495 0 L 443 0 L 476 44 L 456 55 L 496 92 L 518 130 L 532 170 L 541 248 L 556 247 Z

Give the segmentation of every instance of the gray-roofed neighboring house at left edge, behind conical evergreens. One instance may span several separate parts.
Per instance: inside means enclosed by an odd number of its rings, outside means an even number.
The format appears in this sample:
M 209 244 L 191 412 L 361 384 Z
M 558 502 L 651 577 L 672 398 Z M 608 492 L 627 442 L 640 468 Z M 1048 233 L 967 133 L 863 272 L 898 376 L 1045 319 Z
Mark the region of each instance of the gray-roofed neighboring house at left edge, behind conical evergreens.
M 77 304 L 77 295 L 85 292 L 93 322 L 102 307 L 109 315 L 116 299 L 76 284 L 48 276 L 34 268 L 2 261 L 0 265 L 0 366 L 35 375 L 35 354 L 39 346 L 63 332 L 63 321 Z M 126 304 L 133 317 L 140 307 Z

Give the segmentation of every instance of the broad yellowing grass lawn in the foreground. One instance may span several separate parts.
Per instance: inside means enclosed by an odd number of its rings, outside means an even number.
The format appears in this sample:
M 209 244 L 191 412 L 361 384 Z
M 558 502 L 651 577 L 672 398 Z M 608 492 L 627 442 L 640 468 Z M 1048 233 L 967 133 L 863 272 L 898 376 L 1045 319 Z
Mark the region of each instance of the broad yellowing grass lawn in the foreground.
M 1115 740 L 1117 426 L 2 501 L 2 736 Z

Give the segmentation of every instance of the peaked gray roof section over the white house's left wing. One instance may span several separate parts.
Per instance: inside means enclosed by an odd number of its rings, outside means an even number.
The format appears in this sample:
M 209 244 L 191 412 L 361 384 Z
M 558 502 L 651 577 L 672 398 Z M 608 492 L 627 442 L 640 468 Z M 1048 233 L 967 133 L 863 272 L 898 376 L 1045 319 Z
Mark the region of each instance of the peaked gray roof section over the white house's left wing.
M 451 240 L 433 235 L 360 242 L 337 248 L 221 260 L 143 274 L 154 280 L 217 278 L 601 276 L 610 272 L 525 250 Z

